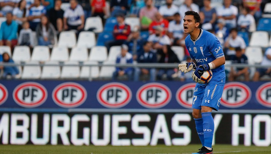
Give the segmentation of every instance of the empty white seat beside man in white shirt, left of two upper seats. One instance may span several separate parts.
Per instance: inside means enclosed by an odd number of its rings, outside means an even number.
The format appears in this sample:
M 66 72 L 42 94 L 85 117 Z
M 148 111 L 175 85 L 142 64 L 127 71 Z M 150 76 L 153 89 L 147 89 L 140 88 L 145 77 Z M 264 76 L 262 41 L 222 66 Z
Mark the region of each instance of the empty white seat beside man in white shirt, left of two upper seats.
M 89 30 L 89 28 L 95 28 L 95 30 L 93 30 L 95 33 L 101 33 L 104 30 L 101 17 L 87 18 L 84 30 Z

